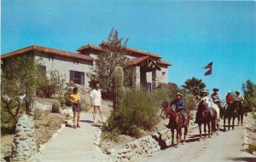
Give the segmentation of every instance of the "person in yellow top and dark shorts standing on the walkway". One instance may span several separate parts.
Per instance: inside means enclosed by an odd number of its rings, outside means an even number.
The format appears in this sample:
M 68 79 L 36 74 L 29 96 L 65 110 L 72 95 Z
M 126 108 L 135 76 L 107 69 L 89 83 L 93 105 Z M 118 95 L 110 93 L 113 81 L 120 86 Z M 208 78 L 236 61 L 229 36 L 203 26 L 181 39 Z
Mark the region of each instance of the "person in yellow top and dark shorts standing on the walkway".
M 77 127 L 80 128 L 79 119 L 81 107 L 79 107 L 79 102 L 81 101 L 81 97 L 78 87 L 73 88 L 73 94 L 70 95 L 70 101 L 72 102 L 73 108 L 73 129 L 76 129 Z

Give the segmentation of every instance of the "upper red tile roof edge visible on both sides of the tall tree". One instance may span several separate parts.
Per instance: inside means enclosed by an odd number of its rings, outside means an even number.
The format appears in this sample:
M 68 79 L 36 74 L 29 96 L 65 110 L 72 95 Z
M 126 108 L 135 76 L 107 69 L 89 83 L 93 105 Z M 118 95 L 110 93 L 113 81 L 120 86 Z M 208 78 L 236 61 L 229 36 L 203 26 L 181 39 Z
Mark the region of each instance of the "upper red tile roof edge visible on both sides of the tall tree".
M 101 45 L 106 45 L 106 42 L 102 42 L 102 43 L 100 44 L 100 46 L 87 44 L 87 45 L 84 45 L 84 46 L 80 47 L 80 48 L 78 49 L 78 51 L 82 51 L 82 50 L 84 50 L 84 49 L 96 49 L 96 50 L 102 51 Z M 146 52 L 146 51 L 143 51 L 143 50 L 131 49 L 131 48 L 129 48 L 129 47 L 125 47 L 125 49 L 126 49 L 128 52 L 136 53 L 136 54 L 139 54 L 139 55 L 148 55 L 148 56 L 154 57 L 154 58 L 156 58 L 156 59 L 160 59 L 160 58 L 161 58 L 160 55 L 157 55 L 157 54 L 154 54 L 154 53 L 150 53 L 150 52 Z

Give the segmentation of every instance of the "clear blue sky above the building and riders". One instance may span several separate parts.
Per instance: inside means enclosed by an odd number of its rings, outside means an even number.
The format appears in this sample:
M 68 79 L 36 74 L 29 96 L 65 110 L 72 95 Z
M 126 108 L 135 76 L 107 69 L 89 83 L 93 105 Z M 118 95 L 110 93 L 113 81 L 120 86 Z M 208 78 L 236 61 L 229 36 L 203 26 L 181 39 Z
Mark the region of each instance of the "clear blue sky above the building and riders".
M 32 44 L 75 52 L 114 27 L 127 46 L 172 63 L 169 82 L 201 78 L 209 90 L 256 83 L 255 2 L 2 0 L 2 51 Z M 213 61 L 212 75 L 204 76 Z

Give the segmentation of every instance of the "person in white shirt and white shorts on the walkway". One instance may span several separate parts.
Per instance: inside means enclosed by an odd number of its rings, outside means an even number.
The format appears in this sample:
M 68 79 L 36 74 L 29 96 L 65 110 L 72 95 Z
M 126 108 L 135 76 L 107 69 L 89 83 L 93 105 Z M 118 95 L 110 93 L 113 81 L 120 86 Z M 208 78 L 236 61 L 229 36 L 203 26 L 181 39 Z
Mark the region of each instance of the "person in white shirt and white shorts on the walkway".
M 102 92 L 99 90 L 100 84 L 96 84 L 95 89 L 90 92 L 90 107 L 93 107 L 92 115 L 93 122 L 96 123 L 96 109 L 99 110 L 100 116 L 102 118 Z

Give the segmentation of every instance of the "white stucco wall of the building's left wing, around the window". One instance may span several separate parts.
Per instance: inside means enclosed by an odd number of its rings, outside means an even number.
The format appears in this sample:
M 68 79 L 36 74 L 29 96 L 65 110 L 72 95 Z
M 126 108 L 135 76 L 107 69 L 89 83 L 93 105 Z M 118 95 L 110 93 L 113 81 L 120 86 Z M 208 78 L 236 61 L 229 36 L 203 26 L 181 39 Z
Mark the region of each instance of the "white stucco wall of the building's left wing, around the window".
M 79 60 L 77 63 L 73 59 L 58 56 L 55 56 L 54 59 L 49 59 L 48 57 L 40 54 L 37 54 L 35 58 L 42 59 L 41 63 L 46 67 L 46 71 L 58 70 L 65 76 L 66 82 L 70 81 L 70 70 L 84 72 L 84 86 L 89 87 L 90 78 L 88 78 L 87 74 L 90 72 L 90 68 L 92 67 L 90 62 Z

